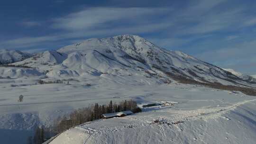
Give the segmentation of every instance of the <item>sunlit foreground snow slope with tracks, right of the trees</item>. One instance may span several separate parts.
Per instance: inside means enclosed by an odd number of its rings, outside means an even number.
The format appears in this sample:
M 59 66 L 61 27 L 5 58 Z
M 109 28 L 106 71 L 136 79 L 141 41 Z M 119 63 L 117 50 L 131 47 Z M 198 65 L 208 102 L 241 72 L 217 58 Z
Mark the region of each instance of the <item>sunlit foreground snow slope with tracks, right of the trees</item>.
M 156 108 L 76 126 L 49 144 L 254 144 L 255 114 L 255 99 L 197 110 Z M 154 119 L 170 125 L 155 124 Z

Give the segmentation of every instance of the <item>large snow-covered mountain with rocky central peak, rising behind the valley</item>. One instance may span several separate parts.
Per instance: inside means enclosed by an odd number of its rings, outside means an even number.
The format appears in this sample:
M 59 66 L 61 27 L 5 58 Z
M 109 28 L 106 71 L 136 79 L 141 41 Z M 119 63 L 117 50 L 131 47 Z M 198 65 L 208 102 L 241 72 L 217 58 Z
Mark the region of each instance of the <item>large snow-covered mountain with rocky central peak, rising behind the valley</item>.
M 247 85 L 252 82 L 183 52 L 166 50 L 134 35 L 91 38 L 14 64 L 35 67 L 40 72 L 47 72 L 49 77 L 61 78 L 105 74 L 141 75 L 185 83 Z

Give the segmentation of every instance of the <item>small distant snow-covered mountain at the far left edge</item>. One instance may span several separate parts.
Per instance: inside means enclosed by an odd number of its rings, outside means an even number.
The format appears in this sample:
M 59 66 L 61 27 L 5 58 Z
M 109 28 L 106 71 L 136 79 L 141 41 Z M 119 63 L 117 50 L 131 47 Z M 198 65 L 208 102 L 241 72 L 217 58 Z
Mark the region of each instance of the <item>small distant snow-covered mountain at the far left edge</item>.
M 0 49 L 0 64 L 15 63 L 32 56 L 18 50 Z

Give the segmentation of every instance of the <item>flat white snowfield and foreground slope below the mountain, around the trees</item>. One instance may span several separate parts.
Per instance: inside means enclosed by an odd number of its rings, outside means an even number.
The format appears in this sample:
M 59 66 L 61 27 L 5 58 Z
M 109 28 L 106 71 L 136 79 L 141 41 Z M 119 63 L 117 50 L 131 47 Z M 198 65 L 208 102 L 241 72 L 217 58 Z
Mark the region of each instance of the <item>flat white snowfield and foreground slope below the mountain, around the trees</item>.
M 147 108 L 144 112 L 98 120 L 68 130 L 51 144 L 253 144 L 256 141 L 256 97 L 178 83 L 133 84 L 95 77 L 70 84 L 36 84 L 38 77 L 0 79 L 1 144 L 26 144 L 35 126 L 53 121 L 74 109 L 113 100 L 137 103 L 174 101 L 174 106 Z M 86 86 L 90 83 L 91 86 Z M 23 95 L 23 102 L 18 96 Z M 150 125 L 154 119 L 177 125 Z M 133 128 L 127 128 L 133 126 Z M 77 140 L 77 141 L 74 141 Z

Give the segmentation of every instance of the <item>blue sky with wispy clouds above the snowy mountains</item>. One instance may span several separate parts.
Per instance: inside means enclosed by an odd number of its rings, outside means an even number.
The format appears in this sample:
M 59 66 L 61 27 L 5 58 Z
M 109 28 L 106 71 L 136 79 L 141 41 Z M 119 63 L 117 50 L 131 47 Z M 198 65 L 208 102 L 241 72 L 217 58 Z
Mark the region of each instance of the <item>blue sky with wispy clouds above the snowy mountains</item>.
M 0 49 L 39 52 L 120 34 L 256 74 L 255 0 L 0 0 Z

